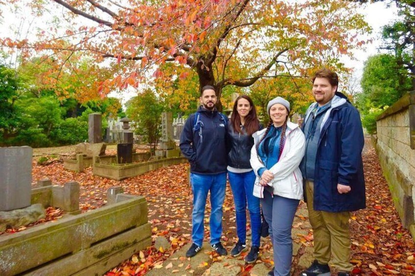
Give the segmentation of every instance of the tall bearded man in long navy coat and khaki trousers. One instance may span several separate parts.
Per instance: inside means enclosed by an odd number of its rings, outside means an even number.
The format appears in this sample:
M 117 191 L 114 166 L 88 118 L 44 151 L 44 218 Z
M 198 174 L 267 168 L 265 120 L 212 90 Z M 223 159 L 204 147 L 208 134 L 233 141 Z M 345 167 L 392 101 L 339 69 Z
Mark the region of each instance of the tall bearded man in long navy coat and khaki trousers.
M 315 103 L 302 125 L 306 148 L 300 169 L 314 234 L 314 262 L 301 276 L 329 276 L 328 262 L 348 276 L 350 213 L 366 207 L 363 128 L 357 109 L 337 92 L 338 76 L 329 69 L 313 77 Z

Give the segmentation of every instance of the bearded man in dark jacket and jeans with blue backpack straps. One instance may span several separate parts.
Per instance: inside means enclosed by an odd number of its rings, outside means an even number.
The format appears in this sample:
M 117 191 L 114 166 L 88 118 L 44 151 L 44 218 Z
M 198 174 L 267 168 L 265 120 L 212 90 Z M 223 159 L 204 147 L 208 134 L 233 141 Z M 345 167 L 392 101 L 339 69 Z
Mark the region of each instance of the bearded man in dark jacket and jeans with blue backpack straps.
M 227 173 L 228 118 L 218 112 L 215 89 L 202 87 L 196 113 L 189 116 L 180 136 L 180 149 L 190 163 L 190 183 L 193 191 L 192 245 L 186 252 L 193 257 L 202 248 L 205 206 L 210 191 L 210 245 L 219 255 L 227 255 L 222 235 L 222 205 L 225 200 Z

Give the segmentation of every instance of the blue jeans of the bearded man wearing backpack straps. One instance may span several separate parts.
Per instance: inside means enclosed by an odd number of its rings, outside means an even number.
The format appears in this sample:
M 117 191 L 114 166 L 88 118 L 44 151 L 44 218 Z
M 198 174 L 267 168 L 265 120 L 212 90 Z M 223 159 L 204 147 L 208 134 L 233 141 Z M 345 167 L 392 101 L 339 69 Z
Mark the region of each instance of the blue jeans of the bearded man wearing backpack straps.
M 225 200 L 226 172 L 218 174 L 190 174 L 193 191 L 192 240 L 202 247 L 206 199 L 210 191 L 210 244 L 220 242 L 222 235 L 223 202 Z

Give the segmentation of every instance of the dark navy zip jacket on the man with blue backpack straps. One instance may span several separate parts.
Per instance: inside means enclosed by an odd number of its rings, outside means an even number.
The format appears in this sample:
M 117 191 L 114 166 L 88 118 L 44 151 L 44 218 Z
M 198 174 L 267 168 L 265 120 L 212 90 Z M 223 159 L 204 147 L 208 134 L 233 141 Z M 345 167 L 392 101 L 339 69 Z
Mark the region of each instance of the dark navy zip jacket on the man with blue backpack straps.
M 202 136 L 199 130 L 193 129 L 197 113 L 202 122 Z M 191 172 L 217 174 L 227 171 L 228 125 L 228 119 L 216 109 L 211 111 L 200 106 L 196 113 L 190 114 L 180 135 L 180 149 L 190 162 Z

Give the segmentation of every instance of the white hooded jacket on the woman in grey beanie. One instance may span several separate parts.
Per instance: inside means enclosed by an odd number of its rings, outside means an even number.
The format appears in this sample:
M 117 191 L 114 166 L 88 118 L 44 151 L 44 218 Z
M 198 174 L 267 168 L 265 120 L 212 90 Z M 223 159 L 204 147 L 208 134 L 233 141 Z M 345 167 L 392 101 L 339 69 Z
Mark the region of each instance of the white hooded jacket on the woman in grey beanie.
M 254 146 L 251 149 L 251 166 L 254 169 L 256 180 L 254 185 L 254 196 L 263 198 L 263 187 L 259 183 L 258 170 L 265 168 L 256 152 L 256 144 L 264 135 L 266 128 L 253 134 Z M 273 187 L 274 194 L 292 199 L 302 199 L 302 175 L 299 169 L 300 162 L 304 156 L 305 137 L 297 124 L 287 122 L 285 131 L 285 144 L 277 164 L 270 171 L 274 179 L 269 186 Z

